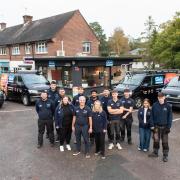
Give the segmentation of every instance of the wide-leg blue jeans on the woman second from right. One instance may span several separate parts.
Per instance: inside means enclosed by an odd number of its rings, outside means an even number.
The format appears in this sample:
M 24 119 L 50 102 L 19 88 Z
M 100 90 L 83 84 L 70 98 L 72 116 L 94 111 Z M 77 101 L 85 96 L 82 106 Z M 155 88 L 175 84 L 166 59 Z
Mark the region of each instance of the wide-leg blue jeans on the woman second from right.
M 149 128 L 139 128 L 139 148 L 141 150 L 149 150 L 149 144 L 151 139 L 151 130 Z

